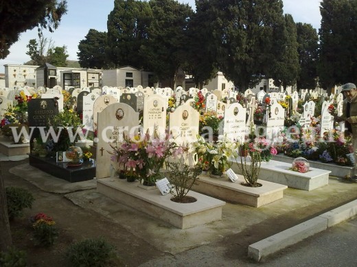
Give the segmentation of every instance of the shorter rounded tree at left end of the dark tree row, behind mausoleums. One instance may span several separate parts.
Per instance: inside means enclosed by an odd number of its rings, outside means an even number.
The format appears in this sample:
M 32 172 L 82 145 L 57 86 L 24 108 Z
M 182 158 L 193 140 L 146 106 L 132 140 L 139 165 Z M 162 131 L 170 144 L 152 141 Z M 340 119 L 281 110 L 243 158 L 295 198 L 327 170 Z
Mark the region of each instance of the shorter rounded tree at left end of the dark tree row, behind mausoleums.
M 82 68 L 107 68 L 106 49 L 108 38 L 106 32 L 89 29 L 84 40 L 78 45 L 78 60 Z

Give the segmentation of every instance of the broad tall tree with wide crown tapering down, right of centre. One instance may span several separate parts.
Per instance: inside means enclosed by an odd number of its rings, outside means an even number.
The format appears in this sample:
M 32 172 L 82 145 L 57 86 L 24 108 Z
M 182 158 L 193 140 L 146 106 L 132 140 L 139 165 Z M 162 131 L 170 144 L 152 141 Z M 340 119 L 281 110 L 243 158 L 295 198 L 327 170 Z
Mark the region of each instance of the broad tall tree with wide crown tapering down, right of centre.
M 220 70 L 240 90 L 257 84 L 281 53 L 282 1 L 204 1 L 211 9 L 205 19 L 211 23 Z

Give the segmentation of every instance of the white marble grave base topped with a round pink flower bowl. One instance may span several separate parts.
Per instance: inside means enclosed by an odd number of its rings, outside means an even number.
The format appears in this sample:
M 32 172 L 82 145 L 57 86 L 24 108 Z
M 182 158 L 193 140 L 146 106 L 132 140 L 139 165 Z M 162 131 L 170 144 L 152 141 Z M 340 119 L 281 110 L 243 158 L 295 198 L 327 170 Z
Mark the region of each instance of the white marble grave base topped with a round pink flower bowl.
M 238 160 L 240 162 L 240 160 Z M 270 160 L 270 162 L 262 162 L 260 166 L 259 179 L 271 181 L 273 183 L 280 183 L 289 188 L 297 188 L 301 190 L 314 190 L 321 188 L 328 184 L 328 177 L 330 170 L 320 170 L 317 168 L 310 168 L 308 173 L 298 173 L 289 170 L 291 164 L 285 162 L 277 162 Z M 235 173 L 239 173 L 237 164 L 233 164 L 232 169 Z

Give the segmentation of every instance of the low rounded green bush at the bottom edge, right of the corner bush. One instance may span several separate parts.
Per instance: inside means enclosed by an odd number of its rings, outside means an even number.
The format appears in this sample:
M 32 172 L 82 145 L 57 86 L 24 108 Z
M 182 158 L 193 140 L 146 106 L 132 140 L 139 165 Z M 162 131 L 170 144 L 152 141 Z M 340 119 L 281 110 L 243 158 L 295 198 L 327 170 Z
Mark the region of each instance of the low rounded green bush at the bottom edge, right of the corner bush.
M 66 256 L 72 266 L 118 266 L 115 247 L 104 238 L 88 238 L 71 244 Z

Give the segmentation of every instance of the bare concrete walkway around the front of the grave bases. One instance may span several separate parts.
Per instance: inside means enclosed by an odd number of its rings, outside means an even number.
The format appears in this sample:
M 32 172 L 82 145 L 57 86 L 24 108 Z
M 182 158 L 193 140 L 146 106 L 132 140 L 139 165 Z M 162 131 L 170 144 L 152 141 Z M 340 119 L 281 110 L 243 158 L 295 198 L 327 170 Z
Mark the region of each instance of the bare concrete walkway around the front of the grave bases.
M 11 174 L 110 218 L 164 253 L 140 266 L 253 266 L 253 260 L 247 257 L 249 245 L 357 199 L 357 183 L 330 177 L 328 186 L 310 192 L 288 188 L 283 199 L 262 207 L 227 203 L 222 208 L 222 220 L 182 230 L 108 199 L 96 192 L 95 180 L 69 183 L 43 173 L 26 160 L 14 161 L 13 165 Z

